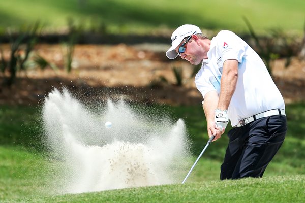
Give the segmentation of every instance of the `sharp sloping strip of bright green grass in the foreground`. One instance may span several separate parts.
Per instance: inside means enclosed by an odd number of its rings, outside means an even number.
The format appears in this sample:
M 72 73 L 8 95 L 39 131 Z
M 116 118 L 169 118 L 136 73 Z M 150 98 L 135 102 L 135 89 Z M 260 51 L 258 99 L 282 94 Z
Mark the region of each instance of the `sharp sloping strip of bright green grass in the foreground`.
M 16 202 L 304 202 L 304 175 L 193 182 L 94 193 L 16 199 Z

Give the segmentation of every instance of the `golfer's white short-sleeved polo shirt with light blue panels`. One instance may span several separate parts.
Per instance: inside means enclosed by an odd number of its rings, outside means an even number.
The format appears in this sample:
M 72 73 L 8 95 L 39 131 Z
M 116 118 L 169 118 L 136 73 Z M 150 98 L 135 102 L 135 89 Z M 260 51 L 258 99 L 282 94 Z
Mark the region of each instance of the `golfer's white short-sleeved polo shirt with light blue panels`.
M 235 33 L 222 30 L 211 40 L 208 59 L 195 77 L 203 98 L 209 91 L 220 93 L 223 64 L 228 59 L 238 61 L 238 79 L 228 107 L 231 125 L 271 109 L 285 109 L 284 99 L 270 77 L 259 55 Z

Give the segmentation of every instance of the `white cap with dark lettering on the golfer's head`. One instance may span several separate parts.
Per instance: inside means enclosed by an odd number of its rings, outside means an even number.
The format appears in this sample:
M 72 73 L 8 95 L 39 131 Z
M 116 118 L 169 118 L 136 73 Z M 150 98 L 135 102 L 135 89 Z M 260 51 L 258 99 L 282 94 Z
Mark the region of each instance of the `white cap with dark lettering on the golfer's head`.
M 201 34 L 201 30 L 196 25 L 181 25 L 172 34 L 172 46 L 167 50 L 166 56 L 169 59 L 174 59 L 178 56 L 177 52 L 174 50 L 186 37 L 191 36 L 196 31 L 196 34 Z

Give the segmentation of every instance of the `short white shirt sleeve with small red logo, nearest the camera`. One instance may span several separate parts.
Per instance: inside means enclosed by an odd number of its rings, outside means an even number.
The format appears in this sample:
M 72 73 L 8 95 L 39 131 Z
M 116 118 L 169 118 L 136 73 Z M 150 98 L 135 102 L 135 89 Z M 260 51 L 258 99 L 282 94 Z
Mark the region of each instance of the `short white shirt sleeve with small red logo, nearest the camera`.
M 222 66 L 228 59 L 235 59 L 239 63 L 245 55 L 245 42 L 235 33 L 222 30 L 217 35 L 217 49 L 222 57 Z

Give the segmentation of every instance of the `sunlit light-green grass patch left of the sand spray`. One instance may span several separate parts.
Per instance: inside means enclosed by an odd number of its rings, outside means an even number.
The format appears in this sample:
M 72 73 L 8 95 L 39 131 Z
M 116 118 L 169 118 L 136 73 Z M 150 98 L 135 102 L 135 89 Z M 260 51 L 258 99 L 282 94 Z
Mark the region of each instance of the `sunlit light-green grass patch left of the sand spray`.
M 0 160 L 0 202 L 42 193 L 45 157 L 22 147 L 0 147 Z

